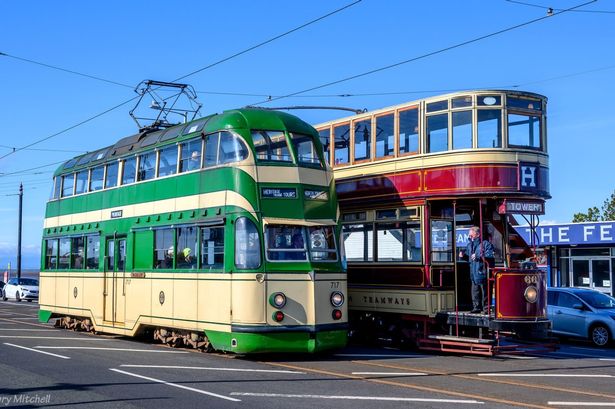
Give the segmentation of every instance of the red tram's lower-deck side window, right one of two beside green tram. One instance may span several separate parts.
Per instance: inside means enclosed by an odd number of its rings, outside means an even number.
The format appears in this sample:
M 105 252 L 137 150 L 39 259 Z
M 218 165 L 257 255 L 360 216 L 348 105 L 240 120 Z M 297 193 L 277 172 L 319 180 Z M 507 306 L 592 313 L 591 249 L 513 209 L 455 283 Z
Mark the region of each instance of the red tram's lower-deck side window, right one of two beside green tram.
M 378 261 L 421 261 L 419 223 L 378 223 Z

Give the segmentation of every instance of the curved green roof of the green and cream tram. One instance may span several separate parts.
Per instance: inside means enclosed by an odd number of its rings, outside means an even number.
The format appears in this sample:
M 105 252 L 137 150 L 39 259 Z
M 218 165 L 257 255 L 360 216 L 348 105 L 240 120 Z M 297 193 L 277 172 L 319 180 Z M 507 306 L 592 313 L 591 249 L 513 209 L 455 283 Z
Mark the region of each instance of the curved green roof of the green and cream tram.
M 258 124 L 255 129 L 274 131 L 293 129 L 296 132 L 313 132 L 311 125 L 286 112 L 260 108 L 231 109 L 166 129 L 145 130 L 126 136 L 113 145 L 69 159 L 56 169 L 54 176 L 126 157 L 157 146 L 194 138 L 199 133 L 210 133 L 223 129 L 247 129 L 253 127 L 254 124 Z

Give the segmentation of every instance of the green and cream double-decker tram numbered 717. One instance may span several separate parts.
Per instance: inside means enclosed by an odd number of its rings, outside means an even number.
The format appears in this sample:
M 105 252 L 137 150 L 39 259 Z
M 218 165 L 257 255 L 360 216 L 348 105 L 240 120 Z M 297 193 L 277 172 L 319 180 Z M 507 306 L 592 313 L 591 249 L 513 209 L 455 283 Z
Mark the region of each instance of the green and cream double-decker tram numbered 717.
M 237 353 L 346 343 L 346 275 L 318 134 L 238 109 L 144 131 L 54 176 L 41 321 Z

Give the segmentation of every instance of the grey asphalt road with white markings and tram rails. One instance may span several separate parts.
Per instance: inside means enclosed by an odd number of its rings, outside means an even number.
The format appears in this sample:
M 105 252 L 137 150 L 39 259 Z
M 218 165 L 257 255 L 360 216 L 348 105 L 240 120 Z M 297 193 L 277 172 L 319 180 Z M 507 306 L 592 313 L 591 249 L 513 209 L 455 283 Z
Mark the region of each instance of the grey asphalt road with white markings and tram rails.
M 237 357 L 91 335 L 0 302 L 0 407 L 615 407 L 615 348 L 483 358 L 349 347 Z

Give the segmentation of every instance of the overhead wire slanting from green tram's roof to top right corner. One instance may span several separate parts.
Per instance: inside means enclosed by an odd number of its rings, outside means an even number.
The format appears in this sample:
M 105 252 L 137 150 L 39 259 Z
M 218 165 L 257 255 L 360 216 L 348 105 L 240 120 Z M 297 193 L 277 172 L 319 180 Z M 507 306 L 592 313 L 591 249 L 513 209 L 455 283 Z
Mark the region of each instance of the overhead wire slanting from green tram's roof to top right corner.
M 394 63 L 394 64 L 389 64 L 389 65 L 386 65 L 386 66 L 383 66 L 383 67 L 379 67 L 379 68 L 375 68 L 373 70 L 369 70 L 369 71 L 366 71 L 366 72 L 363 72 L 363 73 L 360 73 L 360 74 L 355 74 L 355 75 L 352 75 L 352 76 L 349 76 L 349 77 L 346 77 L 346 78 L 342 78 L 342 79 L 339 79 L 339 80 L 327 82 L 325 84 L 321 84 L 321 85 L 317 85 L 317 86 L 314 86 L 314 87 L 310 87 L 310 88 L 307 88 L 307 89 L 304 89 L 304 90 L 301 90 L 301 91 L 297 91 L 297 92 L 293 92 L 293 93 L 290 93 L 290 94 L 287 94 L 287 95 L 283 95 L 283 96 L 279 96 L 279 97 L 275 97 L 275 98 L 268 98 L 266 100 L 250 104 L 250 106 L 262 105 L 262 104 L 265 104 L 265 103 L 268 103 L 268 102 L 272 102 L 272 101 L 276 101 L 276 100 L 279 100 L 279 99 L 293 97 L 295 95 L 300 95 L 300 94 L 304 94 L 306 92 L 315 91 L 317 89 L 326 88 L 326 87 L 329 87 L 331 85 L 340 84 L 342 82 L 346 82 L 346 81 L 354 80 L 354 79 L 357 79 L 357 78 L 365 77 L 367 75 L 375 74 L 377 72 L 382 72 L 382 71 L 385 71 L 385 70 L 389 70 L 391 68 L 399 67 L 399 66 L 404 65 L 404 64 L 408 64 L 408 63 L 411 63 L 411 62 L 422 60 L 422 59 L 425 59 L 427 57 L 431 57 L 431 56 L 434 56 L 434 55 L 442 54 L 442 53 L 444 53 L 446 51 L 454 50 L 456 48 L 460 48 L 460 47 L 463 47 L 463 46 L 468 45 L 468 44 L 476 43 L 478 41 L 485 40 L 487 38 L 495 37 L 497 35 L 500 35 L 500 34 L 503 34 L 503 33 L 506 33 L 506 32 L 512 31 L 512 30 L 516 30 L 518 28 L 525 27 L 525 26 L 528 26 L 530 24 L 537 23 L 539 21 L 543 21 L 543 20 L 548 19 L 548 18 L 553 18 L 553 17 L 555 17 L 557 15 L 560 15 L 560 14 L 563 14 L 563 13 L 566 13 L 566 12 L 578 9 L 579 7 L 583 7 L 583 6 L 586 6 L 588 4 L 595 3 L 596 1 L 597 0 L 590 0 L 590 1 L 584 2 L 582 4 L 579 4 L 577 6 L 573 6 L 573 7 L 570 7 L 568 9 L 565 9 L 565 10 L 553 13 L 551 15 L 546 15 L 546 16 L 535 18 L 535 19 L 532 19 L 532 20 L 529 20 L 529 21 L 526 21 L 526 22 L 523 22 L 523 23 L 520 23 L 520 24 L 515 24 L 514 26 L 510 26 L 510 27 L 507 27 L 507 28 L 504 28 L 504 29 L 501 29 L 501 30 L 498 30 L 498 31 L 495 31 L 495 32 L 492 32 L 492 33 L 489 33 L 489 34 L 485 34 L 485 35 L 482 35 L 482 36 L 479 36 L 479 37 L 475 37 L 475 38 L 470 39 L 470 40 L 462 41 L 460 43 L 456 43 L 456 44 L 453 44 L 453 45 L 448 46 L 448 47 L 441 48 L 441 49 L 436 50 L 436 51 L 425 53 L 425 54 L 419 55 L 417 57 L 409 58 L 409 59 L 404 60 L 404 61 L 400 61 L 400 62 L 397 62 L 397 63 Z

